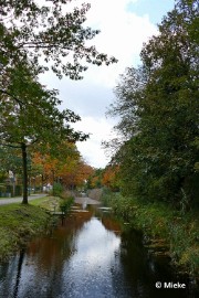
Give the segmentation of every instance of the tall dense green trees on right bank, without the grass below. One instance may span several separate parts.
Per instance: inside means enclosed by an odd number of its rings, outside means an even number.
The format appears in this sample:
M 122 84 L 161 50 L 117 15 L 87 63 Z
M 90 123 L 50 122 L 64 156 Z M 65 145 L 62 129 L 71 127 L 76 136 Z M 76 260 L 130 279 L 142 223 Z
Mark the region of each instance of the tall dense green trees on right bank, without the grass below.
M 189 207 L 197 198 L 198 20 L 197 1 L 178 1 L 142 51 L 143 66 L 127 70 L 111 114 L 123 145 L 125 193 Z

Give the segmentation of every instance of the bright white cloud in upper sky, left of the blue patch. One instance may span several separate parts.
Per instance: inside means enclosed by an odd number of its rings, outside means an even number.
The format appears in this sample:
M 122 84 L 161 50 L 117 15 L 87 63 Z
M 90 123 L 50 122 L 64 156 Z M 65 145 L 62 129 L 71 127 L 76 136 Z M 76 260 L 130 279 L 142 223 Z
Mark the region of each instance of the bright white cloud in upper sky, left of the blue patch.
M 101 30 L 90 43 L 94 43 L 98 51 L 114 55 L 118 58 L 118 63 L 108 67 L 90 67 L 85 79 L 113 87 L 125 67 L 139 62 L 143 43 L 156 34 L 157 29 L 147 14 L 139 17 L 127 10 L 127 4 L 136 2 L 134 0 L 90 0 L 90 2 L 91 9 L 85 24 Z

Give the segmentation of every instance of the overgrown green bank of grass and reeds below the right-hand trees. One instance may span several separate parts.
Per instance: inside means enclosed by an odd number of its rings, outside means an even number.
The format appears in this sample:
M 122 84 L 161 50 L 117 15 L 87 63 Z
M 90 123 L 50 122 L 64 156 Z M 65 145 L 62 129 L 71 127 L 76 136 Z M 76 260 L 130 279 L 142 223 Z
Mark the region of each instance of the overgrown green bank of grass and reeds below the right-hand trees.
M 199 220 L 195 212 L 181 214 L 164 203 L 143 203 L 118 194 L 104 196 L 114 212 L 130 226 L 142 230 L 150 246 L 165 246 L 179 269 L 199 273 Z

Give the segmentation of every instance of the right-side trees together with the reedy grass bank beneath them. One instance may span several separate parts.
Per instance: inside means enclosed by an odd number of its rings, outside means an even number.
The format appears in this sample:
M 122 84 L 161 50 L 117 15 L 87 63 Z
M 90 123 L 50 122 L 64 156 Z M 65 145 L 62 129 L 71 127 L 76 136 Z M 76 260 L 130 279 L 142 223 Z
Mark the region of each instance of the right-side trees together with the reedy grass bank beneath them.
M 197 26 L 198 1 L 176 1 L 144 44 L 142 64 L 121 75 L 108 109 L 119 118 L 117 137 L 104 142 L 122 193 L 114 211 L 164 240 L 190 273 L 199 272 Z

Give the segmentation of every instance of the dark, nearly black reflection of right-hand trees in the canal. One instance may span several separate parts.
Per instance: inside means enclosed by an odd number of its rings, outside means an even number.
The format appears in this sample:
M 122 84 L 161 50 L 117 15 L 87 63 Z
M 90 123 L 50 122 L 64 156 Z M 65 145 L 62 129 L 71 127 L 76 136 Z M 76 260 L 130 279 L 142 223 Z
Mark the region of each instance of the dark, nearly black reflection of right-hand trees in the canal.
M 174 281 L 166 258 L 156 259 L 143 246 L 143 236 L 137 231 L 124 232 L 121 253 L 115 256 L 113 287 L 116 297 L 186 298 L 187 292 L 178 289 L 156 289 L 156 281 Z M 125 296 L 124 296 L 125 292 Z

